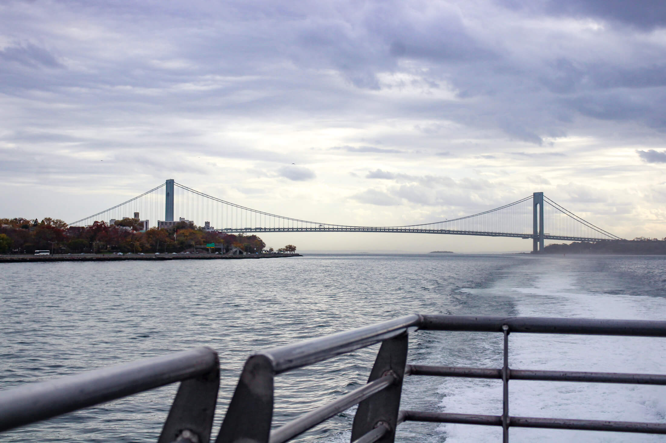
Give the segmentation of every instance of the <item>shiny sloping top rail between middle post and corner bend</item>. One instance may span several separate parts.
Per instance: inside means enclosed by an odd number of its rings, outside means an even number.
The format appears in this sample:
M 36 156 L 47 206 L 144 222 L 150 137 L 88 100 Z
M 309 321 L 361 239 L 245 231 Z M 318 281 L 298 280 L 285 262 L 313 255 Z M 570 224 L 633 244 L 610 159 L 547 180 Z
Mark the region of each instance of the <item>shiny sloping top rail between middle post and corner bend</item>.
M 409 327 L 418 326 L 419 320 L 419 315 L 407 315 L 352 331 L 268 349 L 258 354 L 268 357 L 272 361 L 273 370 L 279 374 L 396 337 L 405 333 Z

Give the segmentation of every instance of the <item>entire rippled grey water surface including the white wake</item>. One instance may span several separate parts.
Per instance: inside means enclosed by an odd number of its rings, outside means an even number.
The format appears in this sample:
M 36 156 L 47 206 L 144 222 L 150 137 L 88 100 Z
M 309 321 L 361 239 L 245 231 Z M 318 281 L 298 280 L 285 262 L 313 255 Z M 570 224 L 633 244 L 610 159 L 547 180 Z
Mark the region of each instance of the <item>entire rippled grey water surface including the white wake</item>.
M 219 428 L 252 351 L 408 313 L 666 319 L 666 257 L 310 255 L 11 263 L 0 267 L 0 388 L 206 345 L 220 355 Z M 364 384 L 377 347 L 276 378 L 274 424 Z M 496 334 L 422 331 L 411 363 L 501 366 Z M 512 335 L 516 369 L 666 372 L 665 339 Z M 13 430 L 2 441 L 155 442 L 176 386 Z M 666 422 L 663 386 L 512 381 L 511 414 Z M 402 408 L 501 414 L 497 380 L 412 377 Z M 348 441 L 353 410 L 301 440 Z M 511 441 L 662 436 L 512 429 Z M 403 424 L 396 441 L 498 442 L 482 426 Z

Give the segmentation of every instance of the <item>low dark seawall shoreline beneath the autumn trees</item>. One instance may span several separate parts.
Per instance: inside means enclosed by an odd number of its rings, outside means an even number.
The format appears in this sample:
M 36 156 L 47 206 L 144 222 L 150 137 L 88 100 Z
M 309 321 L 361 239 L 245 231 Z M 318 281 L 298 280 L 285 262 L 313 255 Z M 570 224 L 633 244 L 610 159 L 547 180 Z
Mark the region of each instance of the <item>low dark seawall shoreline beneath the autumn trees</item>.
M 262 259 L 262 258 L 286 258 L 302 257 L 300 254 L 272 253 L 272 254 L 247 254 L 247 255 L 217 255 L 217 254 L 85 254 L 85 255 L 0 255 L 0 263 L 28 263 L 44 261 L 168 261 L 168 260 L 236 260 L 236 259 Z

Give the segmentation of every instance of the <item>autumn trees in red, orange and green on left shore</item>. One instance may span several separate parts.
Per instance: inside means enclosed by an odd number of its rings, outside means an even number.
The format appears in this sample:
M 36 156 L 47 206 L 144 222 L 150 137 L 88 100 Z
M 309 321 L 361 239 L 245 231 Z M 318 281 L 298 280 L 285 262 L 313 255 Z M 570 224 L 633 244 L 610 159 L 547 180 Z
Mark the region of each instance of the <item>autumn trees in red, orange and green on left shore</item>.
M 141 231 L 139 220 L 124 218 L 113 225 L 95 222 L 89 226 L 68 226 L 63 220 L 45 218 L 0 218 L 0 253 L 34 253 L 49 250 L 53 253 L 171 253 L 182 252 L 206 243 L 224 244 L 246 253 L 273 252 L 264 249 L 266 243 L 256 235 L 216 232 L 180 222 L 168 229 L 153 227 Z M 296 246 L 286 245 L 278 252 L 296 252 Z

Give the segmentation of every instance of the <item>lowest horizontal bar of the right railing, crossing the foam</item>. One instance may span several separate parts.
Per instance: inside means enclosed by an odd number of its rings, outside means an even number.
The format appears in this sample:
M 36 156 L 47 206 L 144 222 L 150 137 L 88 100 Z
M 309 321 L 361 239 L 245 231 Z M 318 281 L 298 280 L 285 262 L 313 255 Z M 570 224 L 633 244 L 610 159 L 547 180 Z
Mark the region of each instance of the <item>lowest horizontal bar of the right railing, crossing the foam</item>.
M 451 414 L 449 412 L 400 411 L 405 421 L 482 424 L 501 426 L 500 415 Z M 509 417 L 512 428 L 547 428 L 600 430 L 613 432 L 641 432 L 666 434 L 666 423 L 617 422 L 612 420 L 577 420 L 571 418 Z

